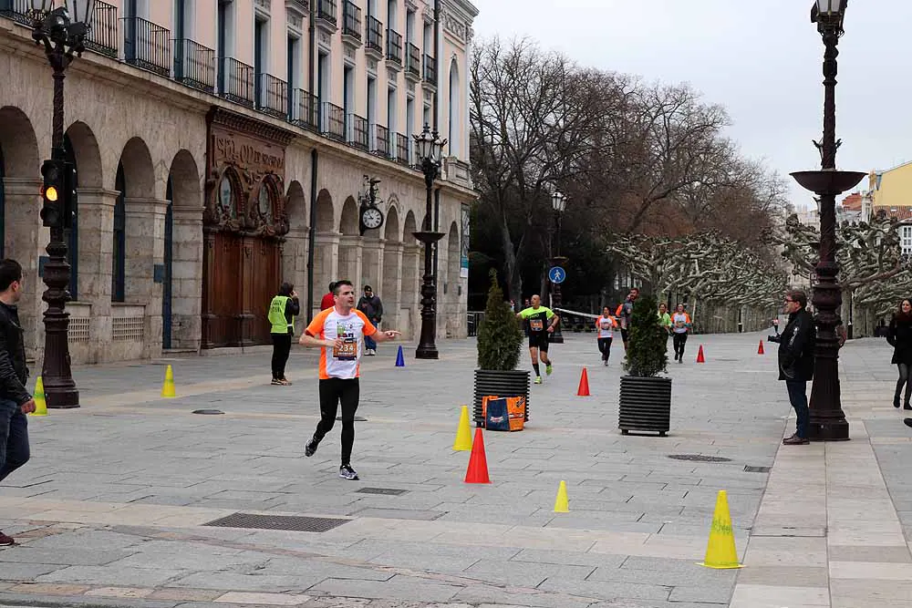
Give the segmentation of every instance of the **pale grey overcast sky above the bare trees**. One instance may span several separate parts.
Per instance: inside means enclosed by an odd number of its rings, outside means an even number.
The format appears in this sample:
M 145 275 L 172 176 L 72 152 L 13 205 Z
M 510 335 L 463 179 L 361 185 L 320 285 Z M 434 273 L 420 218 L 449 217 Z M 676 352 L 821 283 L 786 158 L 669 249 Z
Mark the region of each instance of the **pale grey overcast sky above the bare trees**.
M 744 155 L 816 169 L 824 47 L 812 0 L 473 0 L 476 36 L 529 36 L 576 62 L 689 82 L 728 109 Z M 755 10 L 751 10 L 755 9 Z M 912 160 L 912 2 L 852 0 L 839 44 L 839 169 Z M 863 182 L 864 183 L 864 182 Z M 813 201 L 797 184 L 793 203 Z

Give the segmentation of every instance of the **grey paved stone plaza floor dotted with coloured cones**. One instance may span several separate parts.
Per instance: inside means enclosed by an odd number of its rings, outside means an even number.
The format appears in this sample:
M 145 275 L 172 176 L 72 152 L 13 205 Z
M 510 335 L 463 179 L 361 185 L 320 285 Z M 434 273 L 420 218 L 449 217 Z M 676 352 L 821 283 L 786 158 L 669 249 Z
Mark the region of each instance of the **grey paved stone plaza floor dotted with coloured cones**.
M 83 407 L 30 418 L 33 459 L 0 486 L 0 528 L 21 541 L 0 550 L 0 604 L 907 606 L 912 429 L 891 405 L 889 347 L 843 349 L 852 441 L 782 447 L 794 423 L 760 337 L 693 336 L 687 363 L 670 364 L 671 432 L 658 438 L 617 431 L 619 341 L 605 368 L 591 334 L 567 335 L 554 375 L 533 387 L 529 426 L 485 434 L 490 486 L 463 483 L 469 453 L 451 449 L 472 398 L 472 340 L 440 343 L 437 362 L 415 361 L 408 345 L 405 368 L 391 345 L 364 360 L 358 482 L 337 478 L 338 426 L 303 456 L 315 352 L 293 353 L 291 387 L 268 385 L 264 352 L 77 368 Z M 177 399 L 159 397 L 167 363 Z M 582 366 L 591 397 L 575 395 Z M 358 491 L 370 488 L 407 491 Z M 696 565 L 719 489 L 742 570 Z M 237 511 L 348 521 L 324 532 L 202 525 Z

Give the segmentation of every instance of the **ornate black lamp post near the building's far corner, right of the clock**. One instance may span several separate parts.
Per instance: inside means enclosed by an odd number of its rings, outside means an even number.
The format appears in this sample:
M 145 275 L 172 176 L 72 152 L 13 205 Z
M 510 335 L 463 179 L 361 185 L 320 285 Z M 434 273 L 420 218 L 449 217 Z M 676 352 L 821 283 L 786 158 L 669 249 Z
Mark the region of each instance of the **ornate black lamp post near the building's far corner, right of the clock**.
M 434 189 L 434 180 L 440 172 L 440 156 L 446 139 L 440 139 L 437 131 L 430 132 L 428 125 L 420 135 L 413 136 L 418 151 L 418 161 L 424 171 L 424 184 L 427 187 L 428 198 L 421 232 L 412 232 L 415 238 L 424 243 L 424 277 L 421 282 L 421 338 L 415 356 L 419 359 L 436 359 L 437 345 L 437 286 L 434 284 L 434 267 L 432 252 L 434 243 L 443 238 L 443 232 L 433 232 L 434 224 L 431 221 L 431 198 Z

